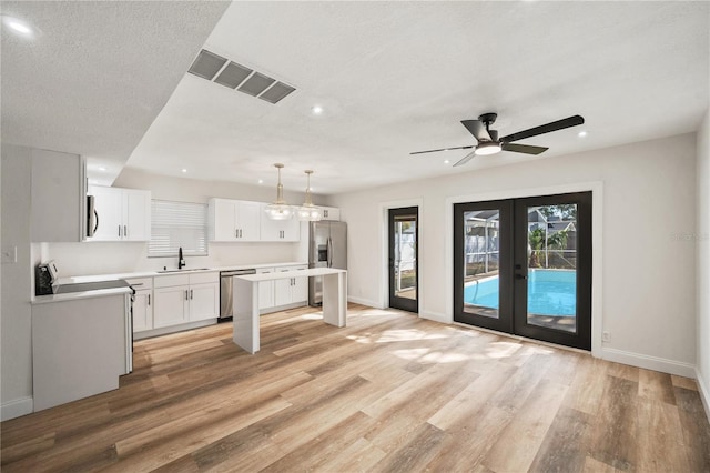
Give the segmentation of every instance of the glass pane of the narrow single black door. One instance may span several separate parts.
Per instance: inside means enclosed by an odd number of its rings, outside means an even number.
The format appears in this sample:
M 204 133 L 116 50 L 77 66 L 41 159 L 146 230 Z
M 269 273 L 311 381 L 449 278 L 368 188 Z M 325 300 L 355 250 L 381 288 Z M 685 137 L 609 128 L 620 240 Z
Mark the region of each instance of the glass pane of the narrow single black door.
M 395 295 L 417 299 L 417 221 L 410 219 L 395 220 Z

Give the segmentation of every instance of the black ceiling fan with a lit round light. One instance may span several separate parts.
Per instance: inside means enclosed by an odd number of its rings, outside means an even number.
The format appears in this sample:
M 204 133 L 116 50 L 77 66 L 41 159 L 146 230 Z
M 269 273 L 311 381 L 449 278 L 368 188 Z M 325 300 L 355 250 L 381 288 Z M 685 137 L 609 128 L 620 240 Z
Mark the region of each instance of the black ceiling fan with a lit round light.
M 483 115 L 478 117 L 478 120 L 462 121 L 462 124 L 466 127 L 466 130 L 468 130 L 470 134 L 473 134 L 476 140 L 478 140 L 478 144 L 470 144 L 468 147 L 442 148 L 440 150 L 415 151 L 409 154 L 434 153 L 437 151 L 450 150 L 468 150 L 473 148 L 473 151 L 466 154 L 464 159 L 458 161 L 456 164 L 454 164 L 454 167 L 466 164 L 475 155 L 495 154 L 500 151 L 513 151 L 516 153 L 525 154 L 540 154 L 541 152 L 547 151 L 548 148 L 534 147 L 530 144 L 515 144 L 513 142 L 523 140 L 525 138 L 537 137 L 538 134 L 564 130 L 570 127 L 577 127 L 578 124 L 582 124 L 585 122 L 585 119 L 582 117 L 574 115 L 547 124 L 541 124 L 539 127 L 530 128 L 528 130 L 518 131 L 517 133 L 508 134 L 498 139 L 498 131 L 490 129 L 490 125 L 496 122 L 497 117 L 497 113 L 484 113 Z

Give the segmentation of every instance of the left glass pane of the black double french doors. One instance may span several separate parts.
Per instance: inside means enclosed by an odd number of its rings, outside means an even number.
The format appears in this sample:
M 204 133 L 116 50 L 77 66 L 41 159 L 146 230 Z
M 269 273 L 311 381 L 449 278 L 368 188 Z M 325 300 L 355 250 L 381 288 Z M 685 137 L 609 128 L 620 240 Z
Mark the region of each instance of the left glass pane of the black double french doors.
M 500 213 L 464 212 L 464 312 L 498 319 Z

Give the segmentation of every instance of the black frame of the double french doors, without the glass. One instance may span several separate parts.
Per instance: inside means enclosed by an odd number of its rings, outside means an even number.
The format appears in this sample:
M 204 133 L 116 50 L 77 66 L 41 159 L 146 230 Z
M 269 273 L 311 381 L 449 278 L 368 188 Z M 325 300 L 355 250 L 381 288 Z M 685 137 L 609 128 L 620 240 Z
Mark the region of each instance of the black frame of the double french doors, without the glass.
M 566 332 L 527 322 L 528 207 L 577 204 L 577 328 Z M 454 321 L 591 350 L 592 193 L 515 198 L 454 204 Z M 464 212 L 500 209 L 500 305 L 498 319 L 464 312 Z M 508 236 L 506 236 L 508 235 Z M 507 249 L 508 251 L 504 251 Z M 506 258 L 506 253 L 509 255 Z M 523 274 L 521 271 L 525 271 Z M 517 276 L 517 278 L 516 278 Z

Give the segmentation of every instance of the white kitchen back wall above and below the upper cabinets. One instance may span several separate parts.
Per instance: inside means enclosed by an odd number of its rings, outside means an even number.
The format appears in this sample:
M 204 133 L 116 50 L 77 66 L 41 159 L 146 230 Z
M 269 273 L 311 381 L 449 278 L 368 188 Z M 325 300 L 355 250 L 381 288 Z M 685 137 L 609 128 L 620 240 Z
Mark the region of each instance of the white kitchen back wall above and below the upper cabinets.
M 246 185 L 233 182 L 212 182 L 170 178 L 124 169 L 113 187 L 146 189 L 153 199 L 206 203 L 210 198 L 271 202 L 276 198 L 272 185 Z M 304 192 L 284 192 L 291 204 L 301 204 Z M 314 201 L 322 200 L 314 195 Z M 305 261 L 300 243 L 210 243 L 207 256 L 186 256 L 187 268 Z M 175 258 L 148 258 L 142 242 L 49 243 L 43 254 L 57 261 L 62 276 L 122 273 L 174 268 Z

